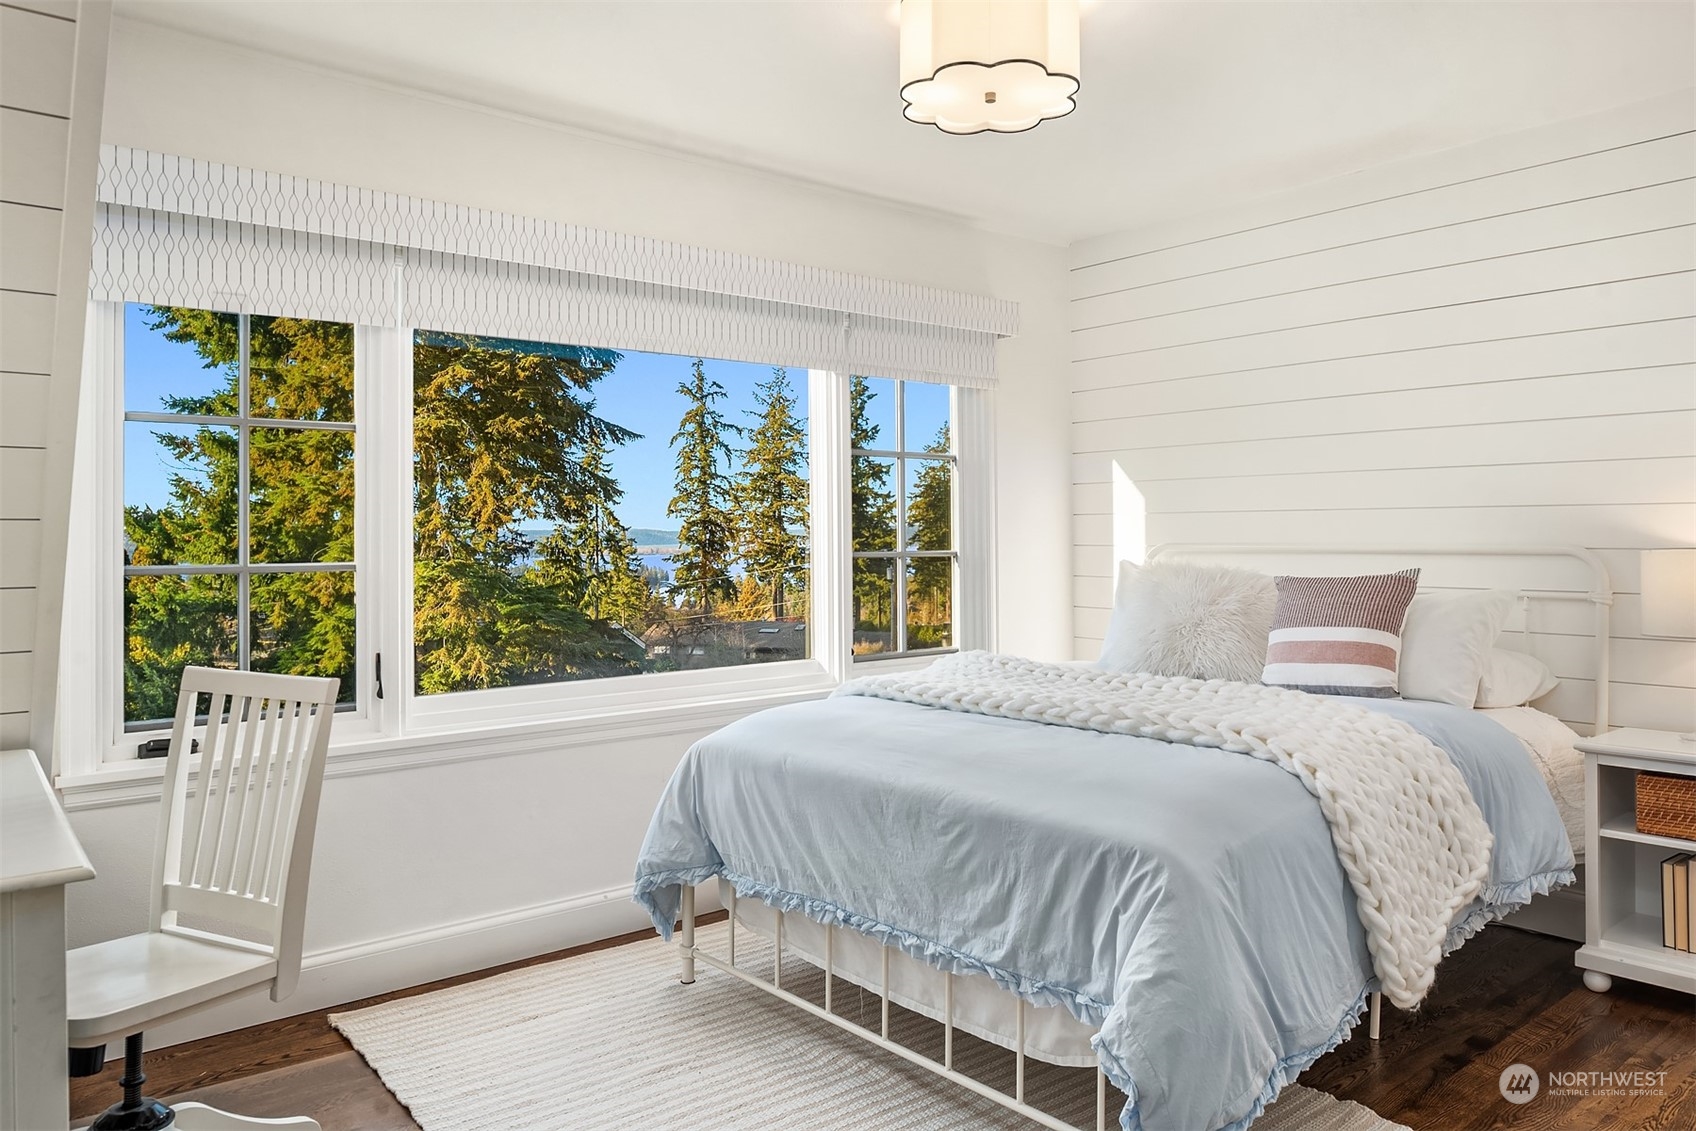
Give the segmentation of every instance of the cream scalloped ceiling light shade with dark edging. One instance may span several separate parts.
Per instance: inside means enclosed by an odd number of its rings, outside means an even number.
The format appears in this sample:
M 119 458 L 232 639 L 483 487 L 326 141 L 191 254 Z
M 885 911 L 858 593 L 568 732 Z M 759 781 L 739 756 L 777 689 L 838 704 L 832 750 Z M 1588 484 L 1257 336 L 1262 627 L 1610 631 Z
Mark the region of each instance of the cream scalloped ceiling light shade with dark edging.
M 901 0 L 909 122 L 1018 134 L 1077 109 L 1077 0 Z

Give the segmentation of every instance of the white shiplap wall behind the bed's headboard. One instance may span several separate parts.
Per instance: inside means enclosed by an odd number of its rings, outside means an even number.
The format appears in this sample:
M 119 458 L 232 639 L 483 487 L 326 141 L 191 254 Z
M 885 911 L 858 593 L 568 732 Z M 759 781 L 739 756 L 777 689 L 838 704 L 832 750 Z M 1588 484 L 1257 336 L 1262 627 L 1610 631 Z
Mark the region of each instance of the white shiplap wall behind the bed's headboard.
M 1696 544 L 1696 92 L 1092 239 L 1070 275 L 1080 658 L 1118 466 L 1148 544 L 1601 549 L 1613 722 L 1696 727 L 1696 644 L 1642 638 L 1635 553 Z M 1426 580 L 1582 587 L 1498 573 Z M 1587 612 L 1531 627 L 1543 705 L 1589 722 Z

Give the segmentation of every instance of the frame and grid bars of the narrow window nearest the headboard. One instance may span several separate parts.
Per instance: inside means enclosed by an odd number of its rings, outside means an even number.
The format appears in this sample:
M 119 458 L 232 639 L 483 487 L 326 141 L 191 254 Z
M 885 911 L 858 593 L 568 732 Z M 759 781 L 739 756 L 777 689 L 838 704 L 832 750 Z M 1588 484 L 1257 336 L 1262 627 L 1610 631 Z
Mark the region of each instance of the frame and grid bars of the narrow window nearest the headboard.
M 895 446 L 894 448 L 850 448 L 848 458 L 873 458 L 895 461 L 895 548 L 894 549 L 851 549 L 855 561 L 887 558 L 895 563 L 895 577 L 890 587 L 889 619 L 894 648 L 853 656 L 855 663 L 877 663 L 880 660 L 906 660 L 912 656 L 946 656 L 960 651 L 960 388 L 948 385 L 948 451 L 923 451 L 907 443 L 907 385 L 904 378 L 877 376 L 862 373 L 865 380 L 884 380 L 895 387 Z M 909 549 L 907 548 L 907 461 L 924 460 L 929 463 L 946 463 L 948 475 L 948 544 L 950 549 Z M 851 490 L 851 480 L 850 480 Z M 919 558 L 948 560 L 948 639 L 943 648 L 907 648 L 907 563 Z

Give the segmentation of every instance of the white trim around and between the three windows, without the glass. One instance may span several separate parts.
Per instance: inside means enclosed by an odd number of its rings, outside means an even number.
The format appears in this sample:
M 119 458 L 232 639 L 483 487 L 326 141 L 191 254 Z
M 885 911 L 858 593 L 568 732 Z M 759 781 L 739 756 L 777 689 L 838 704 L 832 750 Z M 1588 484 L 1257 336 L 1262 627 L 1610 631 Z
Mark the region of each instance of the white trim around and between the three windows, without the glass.
M 767 705 L 829 694 L 851 677 L 851 544 L 848 376 L 807 371 L 809 478 L 812 483 L 812 658 L 695 671 L 644 673 L 488 688 L 451 695 L 414 695 L 412 666 L 412 331 L 358 326 L 354 383 L 358 424 L 354 482 L 354 560 L 358 563 L 360 702 L 339 714 L 331 744 L 331 777 L 512 753 L 517 744 L 572 746 L 621 736 L 719 726 Z M 154 733 L 126 733 L 122 719 L 122 365 L 124 305 L 90 304 L 85 351 L 85 412 L 78 422 L 73 529 L 66 563 L 68 592 L 90 600 L 66 605 L 64 648 L 75 658 L 61 680 L 61 788 L 80 807 L 124 804 L 158 795 L 163 760 L 136 758 Z M 377 375 L 388 375 L 387 380 Z M 405 390 L 405 395 L 395 395 Z M 388 395 L 385 395 L 385 392 Z M 955 412 L 968 426 L 987 419 L 992 393 L 957 390 Z M 957 431 L 965 429 L 957 426 Z M 972 429 L 974 434 L 989 429 Z M 992 563 L 970 561 L 992 544 L 990 460 L 962 434 L 955 441 L 957 592 L 955 639 L 960 648 L 990 646 L 980 627 L 992 621 Z M 970 468 L 970 471 L 968 471 Z M 984 476 L 972 483 L 967 476 Z M 81 515 L 90 521 L 83 522 Z M 97 519 L 98 515 L 98 519 Z M 970 563 L 970 568 L 968 568 Z M 390 602 L 377 593 L 402 593 Z M 383 656 L 383 697 L 373 665 Z M 880 666 L 923 666 L 938 653 L 907 653 Z M 884 668 L 884 670 L 889 670 Z M 90 677 L 92 673 L 92 677 Z M 656 729 L 658 727 L 658 729 Z M 159 731 L 158 734 L 165 734 Z

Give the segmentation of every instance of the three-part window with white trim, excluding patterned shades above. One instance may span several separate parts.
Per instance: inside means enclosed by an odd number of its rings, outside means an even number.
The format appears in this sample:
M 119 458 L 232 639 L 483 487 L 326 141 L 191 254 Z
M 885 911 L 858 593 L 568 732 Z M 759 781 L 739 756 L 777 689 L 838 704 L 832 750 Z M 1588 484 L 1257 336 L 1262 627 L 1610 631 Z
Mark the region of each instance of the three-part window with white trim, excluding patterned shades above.
M 90 326 L 66 648 L 93 678 L 61 716 L 100 761 L 168 726 L 185 665 L 338 677 L 338 744 L 387 756 L 990 639 L 975 390 L 239 310 Z

